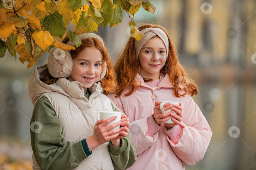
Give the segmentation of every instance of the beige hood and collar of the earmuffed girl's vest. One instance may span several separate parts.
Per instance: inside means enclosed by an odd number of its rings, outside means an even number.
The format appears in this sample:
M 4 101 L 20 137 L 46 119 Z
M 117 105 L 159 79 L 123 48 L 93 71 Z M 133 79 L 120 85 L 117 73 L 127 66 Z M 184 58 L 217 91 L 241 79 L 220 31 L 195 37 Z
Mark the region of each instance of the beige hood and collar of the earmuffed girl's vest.
M 55 83 L 50 85 L 45 84 L 40 79 L 42 79 L 48 73 L 47 64 L 37 66 L 32 72 L 28 81 L 28 92 L 33 105 L 44 93 L 61 93 L 65 96 L 72 96 L 74 98 L 82 99 L 84 98 L 84 89 L 82 88 L 82 83 L 78 81 L 70 82 L 66 78 L 58 78 Z M 98 90 L 101 93 L 102 88 L 100 82 L 94 83 L 92 87 L 88 90 L 93 93 Z M 97 88 L 99 87 L 99 88 Z

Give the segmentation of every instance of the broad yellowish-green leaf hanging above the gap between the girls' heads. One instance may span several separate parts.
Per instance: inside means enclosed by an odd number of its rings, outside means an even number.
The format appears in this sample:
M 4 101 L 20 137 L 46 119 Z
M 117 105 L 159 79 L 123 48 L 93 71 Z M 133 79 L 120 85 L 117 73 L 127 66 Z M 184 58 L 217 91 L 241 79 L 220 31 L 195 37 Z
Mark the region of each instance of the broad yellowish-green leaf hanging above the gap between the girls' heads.
M 107 7 L 107 22 L 109 23 L 110 27 L 113 25 L 118 24 L 123 20 L 122 10 L 119 4 L 111 4 Z

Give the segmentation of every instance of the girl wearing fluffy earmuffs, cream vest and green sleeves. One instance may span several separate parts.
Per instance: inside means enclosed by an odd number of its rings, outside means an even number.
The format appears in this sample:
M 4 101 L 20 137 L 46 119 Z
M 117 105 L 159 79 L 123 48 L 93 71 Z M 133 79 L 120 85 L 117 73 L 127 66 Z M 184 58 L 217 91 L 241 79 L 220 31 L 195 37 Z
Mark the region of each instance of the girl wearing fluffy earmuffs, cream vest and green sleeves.
M 99 120 L 100 111 L 116 110 L 104 95 L 115 88 L 107 49 L 96 34 L 78 37 L 82 45 L 53 48 L 48 64 L 37 66 L 29 79 L 33 169 L 126 169 L 137 159 L 129 119 L 110 126 L 117 116 Z M 63 43 L 75 46 L 68 37 Z

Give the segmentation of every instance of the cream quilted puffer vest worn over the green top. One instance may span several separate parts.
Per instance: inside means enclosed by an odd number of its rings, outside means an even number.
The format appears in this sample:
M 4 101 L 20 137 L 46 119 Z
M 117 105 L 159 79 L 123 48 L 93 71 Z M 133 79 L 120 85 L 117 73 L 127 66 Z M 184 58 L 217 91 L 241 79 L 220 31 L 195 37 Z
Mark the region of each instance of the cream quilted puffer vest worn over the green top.
M 43 65 L 44 66 L 44 65 Z M 39 66 L 40 67 L 40 66 Z M 32 73 L 36 81 L 35 86 L 43 83 L 40 81 L 40 68 Z M 38 76 L 37 76 L 38 75 Z M 31 76 L 33 77 L 33 76 Z M 29 82 L 32 82 L 30 78 Z M 94 124 L 100 119 L 100 111 L 113 111 L 111 102 L 101 93 L 101 83 L 94 83 L 90 90 L 92 93 L 89 100 L 84 96 L 84 89 L 80 82 L 74 81 L 70 82 L 65 78 L 59 78 L 56 83 L 51 85 L 43 84 L 43 88 L 49 86 L 49 90 L 38 97 L 47 97 L 52 104 L 56 115 L 62 125 L 62 133 L 64 136 L 63 143 L 71 141 L 73 144 L 79 142 L 80 140 L 86 139 L 94 133 Z M 36 92 L 32 88 L 33 84 L 30 84 L 29 94 L 32 99 L 33 93 L 38 96 L 39 92 Z M 35 87 L 34 86 L 34 87 Z M 41 86 L 42 87 L 42 86 Z M 34 100 L 34 104 L 38 100 Z M 107 145 L 101 144 L 96 147 L 92 155 L 84 159 L 80 165 L 75 169 L 109 169 L 113 170 L 113 163 L 111 157 L 109 156 Z M 33 169 L 40 169 L 37 164 L 34 155 L 33 157 Z

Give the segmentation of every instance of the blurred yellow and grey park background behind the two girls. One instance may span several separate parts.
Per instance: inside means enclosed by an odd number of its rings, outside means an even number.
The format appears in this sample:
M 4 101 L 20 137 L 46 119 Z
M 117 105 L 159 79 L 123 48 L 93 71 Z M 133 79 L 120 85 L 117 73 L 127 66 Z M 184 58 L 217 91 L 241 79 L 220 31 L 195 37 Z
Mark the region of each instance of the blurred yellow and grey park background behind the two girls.
M 186 170 L 256 169 L 256 1 L 154 0 L 154 15 L 142 7 L 137 23 L 162 25 L 182 64 L 199 87 L 193 96 L 213 132 L 204 159 Z M 107 43 L 114 63 L 129 38 L 128 14 L 115 28 L 95 32 Z M 71 23 L 69 29 L 73 31 Z M 16 53 L 17 56 L 18 53 Z M 29 122 L 33 105 L 27 71 L 7 51 L 0 58 L 0 169 L 32 169 Z

